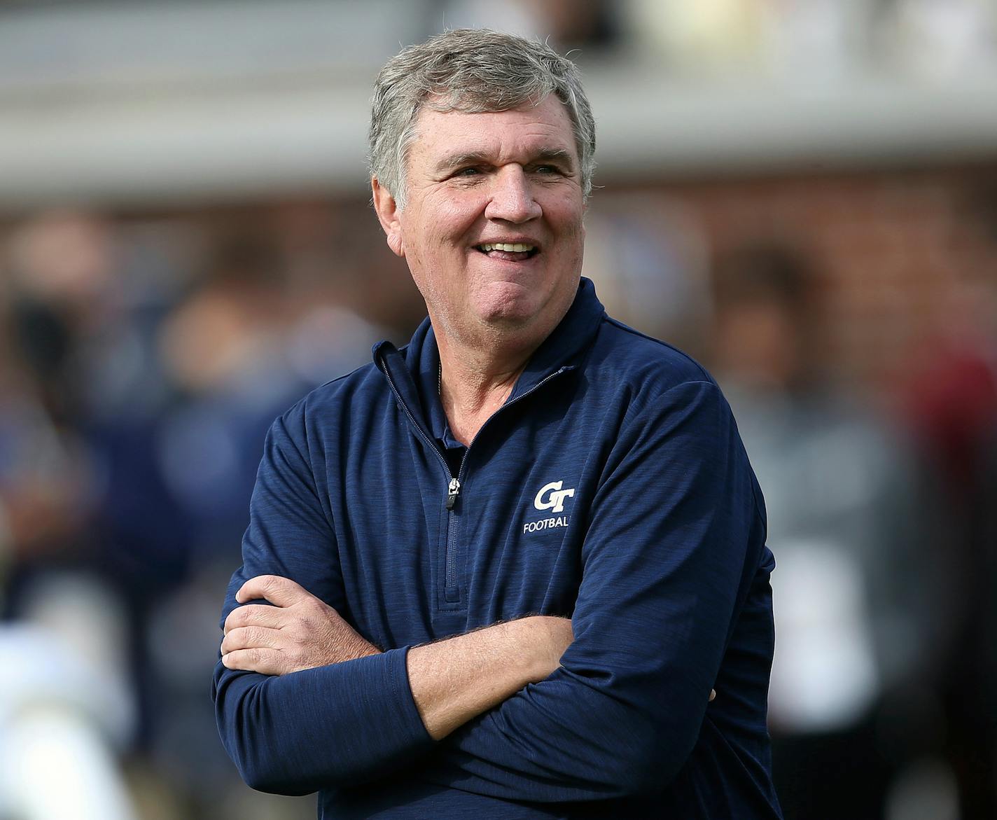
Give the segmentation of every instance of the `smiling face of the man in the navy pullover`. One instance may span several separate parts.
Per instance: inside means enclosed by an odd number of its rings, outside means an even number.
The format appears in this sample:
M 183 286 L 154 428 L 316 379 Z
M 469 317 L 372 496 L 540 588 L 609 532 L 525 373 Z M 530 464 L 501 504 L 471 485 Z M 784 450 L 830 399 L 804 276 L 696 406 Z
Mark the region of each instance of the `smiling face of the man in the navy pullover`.
M 376 186 L 375 204 L 437 332 L 538 344 L 581 271 L 584 204 L 564 106 L 549 96 L 512 111 L 424 109 L 417 127 L 405 209 Z

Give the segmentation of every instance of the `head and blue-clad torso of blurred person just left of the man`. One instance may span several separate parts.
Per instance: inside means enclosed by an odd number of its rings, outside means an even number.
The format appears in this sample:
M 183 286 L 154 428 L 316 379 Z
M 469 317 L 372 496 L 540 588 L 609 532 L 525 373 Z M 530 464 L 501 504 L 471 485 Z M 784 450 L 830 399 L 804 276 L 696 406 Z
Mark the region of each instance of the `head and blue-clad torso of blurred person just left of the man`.
M 269 238 L 223 238 L 160 328 L 176 397 L 164 414 L 157 458 L 193 528 L 199 566 L 245 529 L 260 442 L 306 386 L 285 357 L 290 317 L 281 267 Z

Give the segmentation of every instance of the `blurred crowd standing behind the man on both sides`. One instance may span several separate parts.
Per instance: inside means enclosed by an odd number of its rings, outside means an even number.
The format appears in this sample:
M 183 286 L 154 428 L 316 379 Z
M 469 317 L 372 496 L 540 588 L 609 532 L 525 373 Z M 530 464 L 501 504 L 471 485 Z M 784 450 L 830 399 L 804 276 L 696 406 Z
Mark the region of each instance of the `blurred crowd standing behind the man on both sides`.
M 997 275 L 872 402 L 828 375 L 814 258 L 766 236 L 711 252 L 653 200 L 593 206 L 585 273 L 734 407 L 778 562 L 787 817 L 997 816 Z M 237 781 L 207 681 L 266 428 L 422 317 L 364 211 L 7 225 L 0 816 L 311 815 Z M 69 792 L 44 787 L 59 759 Z

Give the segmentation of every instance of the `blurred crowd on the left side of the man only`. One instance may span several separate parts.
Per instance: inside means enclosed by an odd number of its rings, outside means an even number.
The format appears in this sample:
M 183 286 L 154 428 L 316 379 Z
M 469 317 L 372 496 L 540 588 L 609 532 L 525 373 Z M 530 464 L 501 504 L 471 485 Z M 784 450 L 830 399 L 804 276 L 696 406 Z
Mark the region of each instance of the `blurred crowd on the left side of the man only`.
M 25 676 L 0 687 L 0 719 L 42 695 L 85 716 L 109 761 L 183 795 L 165 816 L 226 816 L 207 683 L 266 429 L 367 361 L 382 325 L 421 317 L 411 285 L 330 221 L 306 205 L 255 223 L 49 212 L 3 243 L 0 654 Z M 0 750 L 20 754 L 17 737 L 0 729 Z M 63 812 L 38 785 L 10 777 L 0 808 L 84 816 L 86 789 Z

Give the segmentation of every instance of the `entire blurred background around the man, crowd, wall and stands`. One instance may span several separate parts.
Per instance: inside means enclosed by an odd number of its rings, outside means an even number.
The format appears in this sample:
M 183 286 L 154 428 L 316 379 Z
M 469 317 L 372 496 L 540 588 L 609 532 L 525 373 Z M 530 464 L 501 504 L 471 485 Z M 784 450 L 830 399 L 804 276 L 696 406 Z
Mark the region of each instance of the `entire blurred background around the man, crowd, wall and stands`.
M 584 272 L 734 407 L 787 818 L 997 817 L 997 0 L 8 0 L 0 818 L 314 816 L 222 751 L 218 614 L 270 421 L 425 314 L 367 106 L 464 25 L 570 50 Z

